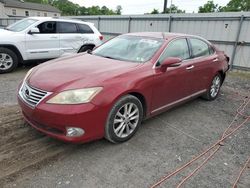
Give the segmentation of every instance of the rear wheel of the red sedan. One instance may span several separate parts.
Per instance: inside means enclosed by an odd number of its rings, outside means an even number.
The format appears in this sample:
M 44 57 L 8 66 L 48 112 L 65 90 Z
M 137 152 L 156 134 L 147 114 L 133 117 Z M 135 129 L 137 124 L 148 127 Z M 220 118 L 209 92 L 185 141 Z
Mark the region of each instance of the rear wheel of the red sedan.
M 222 77 L 220 74 L 217 74 L 213 77 L 209 89 L 202 96 L 202 98 L 208 101 L 216 99 L 220 93 L 221 85 L 222 85 Z

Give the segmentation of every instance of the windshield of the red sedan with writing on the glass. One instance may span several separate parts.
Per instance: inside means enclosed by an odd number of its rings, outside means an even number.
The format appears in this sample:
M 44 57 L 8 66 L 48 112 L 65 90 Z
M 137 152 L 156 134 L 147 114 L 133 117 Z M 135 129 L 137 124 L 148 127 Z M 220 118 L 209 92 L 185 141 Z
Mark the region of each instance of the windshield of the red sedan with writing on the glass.
M 163 39 L 120 36 L 104 43 L 92 54 L 110 59 L 142 63 L 150 60 L 162 43 Z

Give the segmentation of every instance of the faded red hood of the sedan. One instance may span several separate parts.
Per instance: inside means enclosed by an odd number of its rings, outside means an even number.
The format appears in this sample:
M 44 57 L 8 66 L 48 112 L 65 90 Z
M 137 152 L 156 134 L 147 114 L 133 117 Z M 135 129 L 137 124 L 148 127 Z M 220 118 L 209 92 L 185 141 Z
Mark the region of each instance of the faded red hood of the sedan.
M 50 92 L 103 86 L 106 80 L 130 72 L 140 65 L 142 64 L 79 54 L 37 66 L 29 76 L 28 83 Z

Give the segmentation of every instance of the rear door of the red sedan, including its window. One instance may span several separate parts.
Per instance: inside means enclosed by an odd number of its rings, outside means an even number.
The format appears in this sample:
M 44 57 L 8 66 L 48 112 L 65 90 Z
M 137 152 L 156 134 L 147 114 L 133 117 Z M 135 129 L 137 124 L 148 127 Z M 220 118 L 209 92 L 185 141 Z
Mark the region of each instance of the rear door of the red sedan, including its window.
M 192 59 L 187 60 L 189 64 L 189 94 L 202 91 L 208 88 L 213 77 L 213 64 L 218 61 L 217 54 L 213 48 L 202 39 L 189 38 L 190 48 L 192 51 Z

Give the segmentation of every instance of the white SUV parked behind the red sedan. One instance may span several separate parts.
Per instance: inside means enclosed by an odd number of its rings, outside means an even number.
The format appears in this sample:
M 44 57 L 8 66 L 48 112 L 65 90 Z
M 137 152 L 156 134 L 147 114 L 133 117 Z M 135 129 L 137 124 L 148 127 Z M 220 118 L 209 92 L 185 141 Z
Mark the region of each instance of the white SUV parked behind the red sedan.
M 0 29 L 0 73 L 18 63 L 47 60 L 92 50 L 103 36 L 94 24 L 78 20 L 30 17 Z

